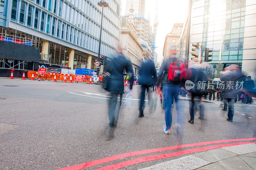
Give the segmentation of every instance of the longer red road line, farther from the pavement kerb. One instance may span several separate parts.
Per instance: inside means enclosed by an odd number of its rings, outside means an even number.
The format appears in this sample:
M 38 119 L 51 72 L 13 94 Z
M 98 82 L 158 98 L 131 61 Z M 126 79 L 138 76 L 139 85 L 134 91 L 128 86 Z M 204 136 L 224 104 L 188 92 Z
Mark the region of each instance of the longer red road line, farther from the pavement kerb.
M 206 144 L 217 144 L 217 143 L 224 143 L 224 142 L 237 142 L 237 141 L 250 141 L 250 140 L 256 140 L 256 138 L 209 141 L 209 142 L 200 142 L 200 143 L 195 143 L 195 144 L 184 144 L 184 145 L 176 145 L 176 146 L 170 146 L 170 147 L 164 147 L 164 148 L 149 149 L 149 150 L 144 150 L 144 151 L 128 152 L 128 153 L 123 153 L 120 155 L 110 156 L 110 157 L 103 158 L 103 159 L 85 162 L 85 163 L 74 165 L 74 166 L 64 167 L 59 170 L 79 170 L 79 169 L 84 169 L 87 167 L 107 163 L 110 161 L 114 161 L 117 159 L 127 158 L 127 157 L 131 157 L 131 156 L 136 156 L 136 155 L 143 155 L 143 154 L 148 154 L 148 153 L 154 153 L 154 152 L 168 151 L 168 150 L 172 150 L 172 149 L 194 147 L 194 146 L 200 146 L 200 145 L 206 145 Z

